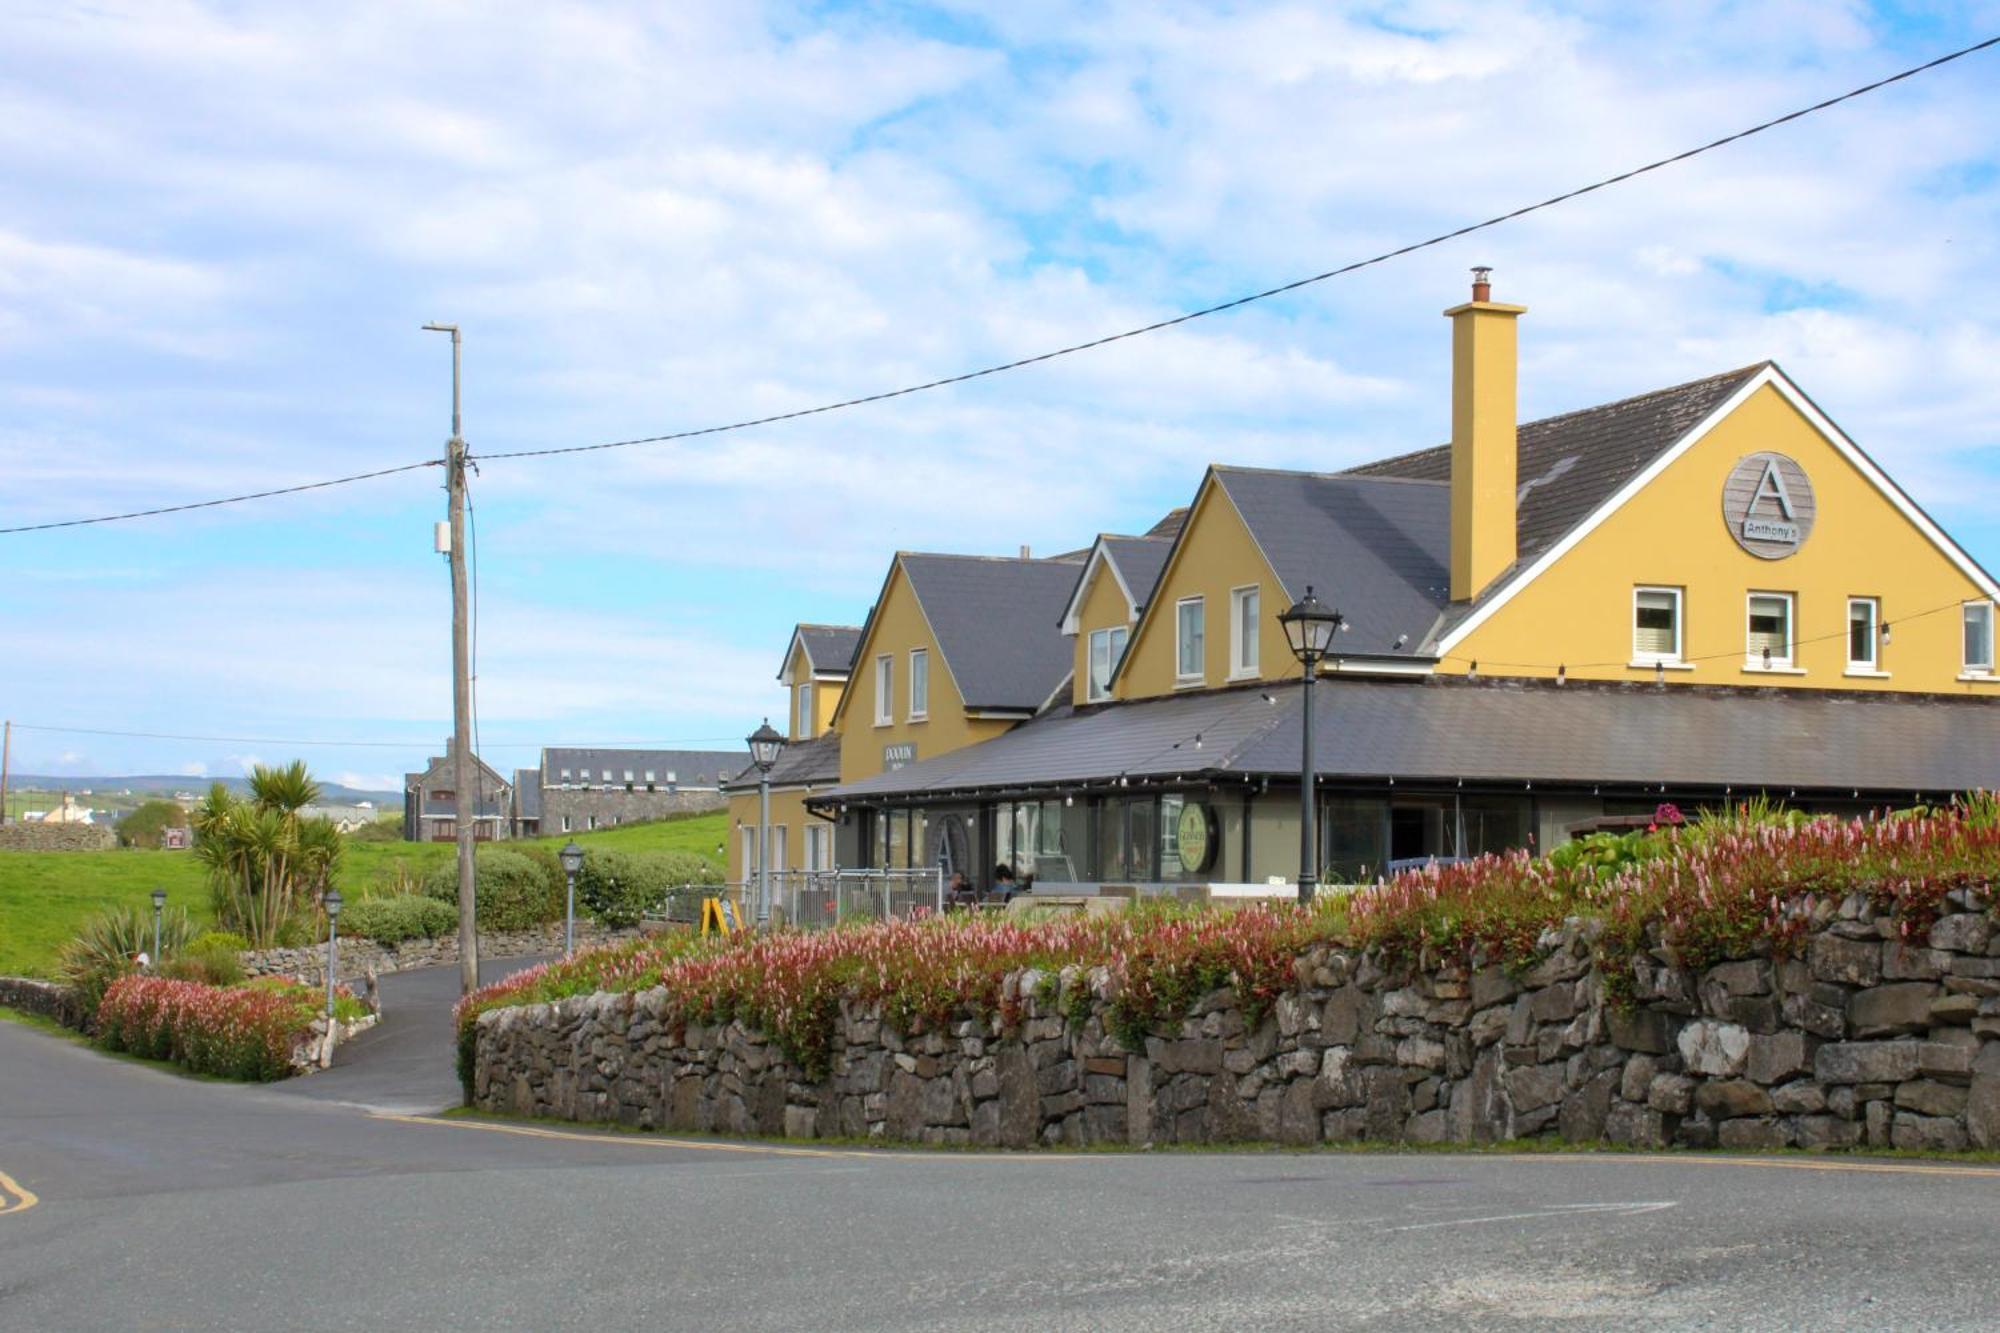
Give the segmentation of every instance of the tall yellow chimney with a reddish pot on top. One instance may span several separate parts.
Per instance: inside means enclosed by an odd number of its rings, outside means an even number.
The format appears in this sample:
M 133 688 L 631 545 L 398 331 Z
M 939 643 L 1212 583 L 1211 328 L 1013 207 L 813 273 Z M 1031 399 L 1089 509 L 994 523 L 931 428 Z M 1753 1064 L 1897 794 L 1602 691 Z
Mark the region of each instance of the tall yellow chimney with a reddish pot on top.
M 1452 320 L 1452 600 L 1480 594 L 1514 562 L 1514 320 L 1492 300 L 1490 268 Z

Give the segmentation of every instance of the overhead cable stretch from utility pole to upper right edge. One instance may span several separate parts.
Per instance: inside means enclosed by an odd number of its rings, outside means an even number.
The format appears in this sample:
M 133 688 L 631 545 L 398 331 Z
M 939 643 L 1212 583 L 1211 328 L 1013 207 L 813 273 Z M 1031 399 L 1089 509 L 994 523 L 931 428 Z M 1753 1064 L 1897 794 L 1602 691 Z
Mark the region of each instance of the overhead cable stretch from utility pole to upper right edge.
M 1798 108 L 1794 112 L 1786 112 L 1784 116 L 1778 116 L 1774 120 L 1764 120 L 1762 124 L 1754 124 L 1748 130 L 1736 130 L 1734 134 L 1724 134 L 1722 138 L 1710 140 L 1710 142 L 1706 142 L 1706 144 L 1702 144 L 1698 148 L 1688 148 L 1686 152 L 1676 152 L 1670 158 L 1658 158 L 1656 162 L 1648 162 L 1644 166 L 1634 166 L 1628 172 L 1618 172 L 1616 176 L 1606 176 L 1604 180 L 1596 180 L 1592 184 L 1578 186 L 1574 190 L 1564 190 L 1562 194 L 1552 194 L 1552 196 L 1548 196 L 1548 198 L 1544 198 L 1540 202 L 1524 204 L 1522 208 L 1514 208 L 1510 212 L 1502 212 L 1502 214 L 1496 214 L 1492 218 L 1486 218 L 1484 222 L 1468 222 L 1466 226 L 1454 228 L 1450 232 L 1440 232 L 1440 234 L 1430 236 L 1426 240 L 1416 240 L 1412 244 L 1398 246 L 1394 250 L 1384 250 L 1382 254 L 1374 254 L 1370 258 L 1364 258 L 1364 260 L 1354 260 L 1352 264 L 1342 264 L 1340 268 L 1328 268 L 1326 272 L 1316 272 L 1310 278 L 1296 278 L 1296 280 L 1284 282 L 1280 286 L 1268 286 L 1262 292 L 1250 292 L 1248 296 L 1238 296 L 1234 300 L 1224 300 L 1224 302 L 1214 304 L 1214 306 L 1202 306 L 1200 310 L 1188 310 L 1186 314 L 1176 314 L 1174 318 L 1156 320 L 1152 324 L 1142 324 L 1138 328 L 1126 328 L 1124 332 L 1104 334 L 1102 338 L 1090 338 L 1088 342 L 1072 342 L 1070 346 L 1058 346 L 1052 352 L 1038 352 L 1034 356 L 1022 356 L 1018 360 L 1004 360 L 1004 362 L 1000 362 L 996 366 L 986 366 L 982 370 L 966 370 L 964 374 L 950 374 L 950 376 L 944 376 L 942 380 L 928 380 L 924 384 L 910 384 L 906 388 L 890 388 L 890 390 L 884 390 L 884 392 L 878 392 L 878 394 L 864 394 L 860 398 L 842 398 L 840 402 L 826 402 L 826 404 L 820 404 L 820 406 L 798 408 L 794 412 L 776 412 L 772 416 L 752 416 L 750 420 L 736 420 L 736 422 L 730 422 L 726 426 L 700 426 L 696 430 L 672 430 L 668 434 L 646 434 L 646 436 L 638 436 L 638 438 L 632 438 L 632 440 L 610 440 L 606 444 L 566 444 L 566 446 L 560 446 L 560 448 L 516 448 L 516 450 L 502 452 L 502 454 L 478 454 L 478 456 L 480 458 L 546 458 L 550 454 L 588 454 L 588 452 L 598 452 L 598 450 L 606 450 L 606 448 L 630 448 L 634 444 L 664 444 L 668 440 L 692 440 L 692 438 L 704 436 L 704 434 L 722 434 L 722 432 L 728 432 L 728 430 L 748 430 L 752 426 L 770 426 L 770 424 L 784 422 L 784 420 L 798 420 L 800 416 L 820 416 L 822 412 L 838 412 L 842 408 L 864 406 L 868 402 L 886 402 L 890 398 L 904 398 L 908 394 L 920 394 L 920 392 L 926 392 L 926 390 L 932 390 L 932 388 L 946 388 L 950 384 L 964 384 L 968 380 L 980 380 L 980 378 L 986 378 L 990 374 L 1002 374 L 1006 370 L 1020 370 L 1024 366 L 1034 366 L 1034 364 L 1040 364 L 1044 360 L 1056 360 L 1058 356 L 1070 356 L 1074 352 L 1088 352 L 1092 348 L 1108 346 L 1112 342 L 1124 342 L 1126 338 L 1138 338 L 1142 334 L 1160 332 L 1162 328 L 1174 328 L 1176 324 L 1188 324 L 1192 320 L 1200 320 L 1200 318 L 1206 318 L 1210 314 L 1222 314 L 1224 310 L 1236 310 L 1238 306 L 1248 306 L 1248 304 L 1252 304 L 1256 300 L 1268 300 L 1272 296 L 1282 296 L 1286 292 L 1296 292 L 1298 288 L 1312 286 L 1314 282 L 1326 282 L 1328 278 L 1338 278 L 1342 274 L 1358 272 L 1358 270 L 1370 268 L 1374 264 L 1386 264 L 1392 258 L 1402 258 L 1404 254 L 1416 254 L 1418 250 L 1428 250 L 1432 246 L 1442 246 L 1448 240 L 1458 240 L 1460 236 L 1470 236 L 1474 232 L 1482 232 L 1486 228 L 1500 226 L 1502 222 L 1512 222 L 1516 218 L 1524 218 L 1530 212 L 1540 212 L 1544 208 L 1554 208 L 1556 204 L 1564 204 L 1564 202 L 1568 202 L 1572 198 L 1580 198 L 1580 196 L 1590 194 L 1594 190 L 1604 190 L 1608 186 L 1622 184 L 1626 180 L 1632 180 L 1634 176 L 1644 176 L 1646 172 L 1656 172 L 1662 166 L 1674 166 L 1676 162 L 1686 162 L 1688 158 L 1698 158 L 1704 152 L 1712 152 L 1712 150 L 1722 148 L 1726 144 L 1734 144 L 1738 140 L 1750 138 L 1752 134 L 1762 134 L 1764 130 L 1774 130 L 1780 124 L 1788 124 L 1792 120 L 1800 120 L 1800 118 L 1810 116 L 1814 112 L 1822 112 L 1822 110 L 1826 110 L 1830 106 L 1840 106 L 1842 102 L 1852 102 L 1858 96 L 1866 96 L 1870 92 L 1876 92 L 1878 88 L 1888 88 L 1890 84 L 1902 82 L 1906 78 L 1914 78 L 1918 74 L 1924 74 L 1926 70 L 1938 68 L 1940 64 L 1950 64 L 1952 60 L 1960 60 L 1960 58 L 1970 56 L 1974 52 L 1986 50 L 1988 46 L 2000 46 L 2000 36 L 1990 36 L 1984 42 L 1974 42 L 1972 46 L 1962 46 L 1962 48 L 1958 48 L 1958 50 L 1954 50 L 1950 54 L 1938 56 L 1936 60 L 1926 60 L 1924 64 L 1910 66 L 1908 70 L 1902 70 L 1900 74 L 1890 74 L 1888 78 L 1878 78 L 1872 84 L 1862 84 L 1860 88 L 1850 88 L 1848 92 L 1842 92 L 1840 96 L 1834 96 L 1834 98 L 1826 98 L 1824 102 L 1814 102 L 1812 106 L 1802 106 L 1802 108 Z

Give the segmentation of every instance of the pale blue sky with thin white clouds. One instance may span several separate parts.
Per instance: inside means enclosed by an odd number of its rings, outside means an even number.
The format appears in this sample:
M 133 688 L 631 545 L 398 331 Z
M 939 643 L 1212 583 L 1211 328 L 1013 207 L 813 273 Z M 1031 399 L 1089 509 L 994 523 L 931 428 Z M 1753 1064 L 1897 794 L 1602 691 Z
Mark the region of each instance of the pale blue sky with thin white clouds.
M 1372 254 L 2000 32 L 2000 4 L 0 6 L 0 526 L 704 426 Z M 1776 358 L 2000 566 L 2000 56 L 1104 352 L 474 482 L 480 731 L 734 745 L 896 548 L 1142 530 L 1206 462 Z M 14 765 L 392 783 L 448 729 L 434 470 L 0 538 Z

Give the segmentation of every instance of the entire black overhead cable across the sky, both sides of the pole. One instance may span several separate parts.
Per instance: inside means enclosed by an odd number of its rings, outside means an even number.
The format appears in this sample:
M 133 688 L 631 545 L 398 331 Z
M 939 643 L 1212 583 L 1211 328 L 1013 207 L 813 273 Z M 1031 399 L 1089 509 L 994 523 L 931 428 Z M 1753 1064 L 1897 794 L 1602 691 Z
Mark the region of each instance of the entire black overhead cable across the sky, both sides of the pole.
M 1046 360 L 1056 360 L 1058 356 L 1072 356 L 1076 352 L 1088 352 L 1088 350 L 1094 350 L 1094 348 L 1100 348 L 1100 346 L 1108 346 L 1112 342 L 1124 342 L 1128 338 L 1138 338 L 1138 336 L 1144 336 L 1144 334 L 1150 334 L 1150 332 L 1160 332 L 1162 328 L 1174 328 L 1178 324 L 1188 324 L 1192 320 L 1208 318 L 1210 314 L 1222 314 L 1226 310 L 1236 310 L 1240 306 L 1248 306 L 1248 304 L 1258 302 L 1258 300 L 1270 300 L 1272 296 L 1282 296 L 1286 292 L 1296 292 L 1296 290 L 1312 286 L 1316 282 L 1326 282 L 1328 278 L 1338 278 L 1342 274 L 1358 272 L 1362 268 L 1372 268 L 1376 264 L 1386 264 L 1388 260 L 1402 258 L 1406 254 L 1416 254 L 1418 250 L 1430 250 L 1430 248 L 1442 246 L 1442 244 L 1446 244 L 1450 240 L 1458 240 L 1458 238 L 1470 236 L 1474 232 L 1484 232 L 1488 228 L 1500 226 L 1502 222 L 1512 222 L 1512 220 L 1524 218 L 1524 216 L 1528 216 L 1532 212 L 1542 212 L 1544 208 L 1554 208 L 1556 204 L 1564 204 L 1568 200 L 1582 198 L 1584 194 L 1592 194 L 1596 190 L 1604 190 L 1604 188 L 1610 188 L 1614 184 L 1622 184 L 1622 182 L 1632 180 L 1636 176 L 1644 176 L 1648 172 L 1656 172 L 1656 170 L 1660 170 L 1664 166 L 1674 166 L 1676 162 L 1686 162 L 1690 158 L 1698 158 L 1704 152 L 1714 152 L 1716 148 L 1724 148 L 1728 144 L 1740 142 L 1740 140 L 1750 138 L 1754 134 L 1764 134 L 1766 130 L 1774 130 L 1774 128 L 1778 128 L 1782 124 L 1790 124 L 1794 120 L 1802 120 L 1804 116 L 1812 116 L 1814 112 L 1822 112 L 1822 110 L 1828 110 L 1832 106 L 1840 106 L 1842 102 L 1852 102 L 1854 98 L 1866 96 L 1866 94 L 1876 92 L 1880 88 L 1888 88 L 1890 84 L 1898 84 L 1898 82 L 1902 82 L 1906 78 L 1914 78 L 1914 76 L 1924 74 L 1928 70 L 1936 70 L 1938 66 L 1950 64 L 1952 60 L 1962 60 L 1964 56 L 1988 50 L 1992 46 L 2000 46 L 2000 36 L 1990 36 L 1984 42 L 1974 42 L 1970 46 L 1960 46 L 1954 52 L 1948 52 L 1948 54 L 1938 56 L 1934 60 L 1926 60 L 1924 64 L 1914 64 L 1914 66 L 1910 66 L 1906 70 L 1900 70 L 1896 74 L 1890 74 L 1886 78 L 1878 78 L 1878 80 L 1874 80 L 1870 84 L 1862 84 L 1860 88 L 1850 88 L 1848 92 L 1842 92 L 1838 96 L 1826 98 L 1822 102 L 1814 102 L 1812 106 L 1802 106 L 1802 108 L 1798 108 L 1794 112 L 1786 112 L 1784 116 L 1776 116 L 1772 120 L 1764 120 L 1760 124 L 1754 124 L 1754 126 L 1746 128 L 1746 130 L 1736 130 L 1734 134 L 1724 134 L 1722 138 L 1710 140 L 1710 142 L 1700 144 L 1696 148 L 1688 148 L 1684 152 L 1676 152 L 1672 156 L 1658 158 L 1654 162 L 1646 162 L 1644 166 L 1634 166 L 1632 170 L 1618 172 L 1616 176 L 1604 176 L 1602 180 L 1594 180 L 1594 182 L 1590 182 L 1586 186 L 1578 186 L 1574 190 L 1564 190 L 1562 194 L 1552 194 L 1552 196 L 1548 196 L 1544 200 L 1538 200 L 1534 204 L 1524 204 L 1524 206 L 1514 208 L 1510 212 L 1502 212 L 1502 214 L 1496 214 L 1492 218 L 1486 218 L 1484 222 L 1468 222 L 1466 226 L 1460 226 L 1460 228 L 1454 228 L 1454 230 L 1448 230 L 1448 232 L 1440 232 L 1436 236 L 1428 236 L 1424 240 L 1416 240 L 1416 242 L 1410 242 L 1406 246 L 1398 246 L 1394 250 L 1384 250 L 1380 254 L 1368 256 L 1364 260 L 1354 260 L 1350 264 L 1342 264 L 1338 268 L 1328 268 L 1326 272 L 1316 272 L 1316 274 L 1312 274 L 1308 278 L 1296 278 L 1292 282 L 1284 282 L 1284 284 L 1278 284 L 1278 286 L 1264 288 L 1262 292 L 1250 292 L 1248 296 L 1236 296 L 1234 300 L 1224 300 L 1224 302 L 1218 302 L 1218 304 L 1212 304 L 1212 306 L 1202 306 L 1200 310 L 1188 310 L 1184 314 L 1176 314 L 1176 316 L 1166 318 L 1166 320 L 1156 320 L 1152 324 L 1142 324 L 1138 328 L 1126 328 L 1124 332 L 1104 334 L 1102 338 L 1090 338 L 1088 342 L 1072 342 L 1068 346 L 1060 346 L 1060 348 L 1054 348 L 1054 350 L 1048 350 L 1048 352 L 1038 352 L 1034 356 L 1022 356 L 1022 358 L 1016 358 L 1016 360 L 1004 360 L 1004 362 L 994 364 L 994 366 L 984 366 L 980 370 L 966 370 L 962 374 L 950 374 L 950 376 L 944 376 L 944 378 L 938 378 L 938 380 L 926 380 L 922 384 L 908 384 L 904 388 L 890 388 L 890 390 L 876 392 L 876 394 L 862 394 L 862 396 L 856 396 L 856 398 L 842 398 L 838 402 L 824 402 L 820 406 L 796 408 L 792 412 L 774 412 L 770 416 L 752 416 L 748 420 L 736 420 L 736 422 L 728 422 L 728 424 L 720 424 L 720 426 L 698 426 L 694 430 L 670 430 L 666 434 L 646 434 L 646 436 L 636 436 L 636 438 L 630 438 L 630 440 L 608 440 L 608 442 L 602 442 L 602 444 L 566 444 L 566 446 L 556 446 L 556 448 L 516 448 L 516 450 L 506 450 L 506 452 L 496 452 L 496 454 L 476 454 L 476 456 L 478 458 L 548 458 L 548 456 L 554 456 L 554 454 L 586 454 L 586 452 L 600 452 L 600 450 L 606 450 L 606 448 L 630 448 L 634 444 L 664 444 L 668 440 L 692 440 L 692 438 L 698 438 L 698 436 L 704 436 L 704 434 L 724 434 L 724 432 L 730 432 L 730 430 L 750 430 L 752 426 L 772 426 L 772 424 L 786 422 L 786 420 L 798 420 L 802 416 L 820 416 L 824 412 L 840 412 L 844 408 L 864 406 L 864 404 L 870 404 L 870 402 L 886 402 L 890 398 L 906 398 L 910 394 L 928 392 L 932 388 L 946 388 L 946 386 L 952 386 L 952 384 L 966 384 L 970 380 L 980 380 L 980 378 L 986 378 L 986 376 L 992 376 L 992 374 L 1002 374 L 1006 370 L 1020 370 L 1024 366 L 1036 366 L 1036 364 L 1042 364 Z M 468 454 L 468 456 L 472 456 L 472 454 Z M 306 484 L 300 484 L 300 486 L 280 486 L 276 490 L 256 490 L 256 492 L 250 492 L 250 494 L 234 494 L 234 496 L 224 496 L 224 498 L 218 498 L 218 500 L 196 500 L 192 504 L 168 504 L 168 506 L 160 506 L 160 508 L 144 508 L 144 510 L 134 510 L 134 512 L 126 512 L 126 514 L 102 514 L 102 516 L 96 516 L 96 518 L 66 518 L 66 520 L 60 520 L 60 522 L 20 524 L 20 526 L 12 526 L 12 528 L 0 528 L 0 536 L 8 536 L 8 534 L 16 534 L 16 532 L 46 532 L 50 528 L 76 528 L 76 526 L 86 526 L 86 524 L 94 524 L 94 522 L 122 522 L 126 518 L 152 518 L 156 514 L 178 514 L 178 512 L 184 512 L 184 510 L 190 510 L 190 508 L 214 508 L 218 504 L 240 504 L 244 500 L 262 500 L 262 498 L 280 496 L 280 494 L 298 494 L 302 490 L 322 490 L 326 486 L 344 486 L 348 482 L 370 480 L 370 478 L 376 478 L 376 476 L 392 476 L 396 472 L 410 472 L 414 468 L 428 468 L 428 466 L 440 466 L 440 460 L 426 458 L 424 462 L 408 462 L 408 464 L 404 464 L 400 468 L 382 468 L 382 470 L 376 470 L 376 472 L 358 472 L 354 476 L 336 476 L 336 478 L 330 478 L 330 480 L 306 482 Z

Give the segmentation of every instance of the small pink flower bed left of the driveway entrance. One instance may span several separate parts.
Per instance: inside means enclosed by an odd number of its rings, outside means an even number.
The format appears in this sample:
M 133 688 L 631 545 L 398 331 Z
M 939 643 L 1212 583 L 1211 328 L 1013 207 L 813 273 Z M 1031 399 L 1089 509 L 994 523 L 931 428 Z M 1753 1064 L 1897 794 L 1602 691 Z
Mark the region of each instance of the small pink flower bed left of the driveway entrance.
M 294 1053 L 310 1039 L 324 1003 L 316 987 L 284 977 L 236 987 L 120 977 L 98 1005 L 98 1041 L 194 1073 L 268 1083 L 294 1073 Z M 338 1019 L 362 1013 L 352 995 L 338 995 Z

